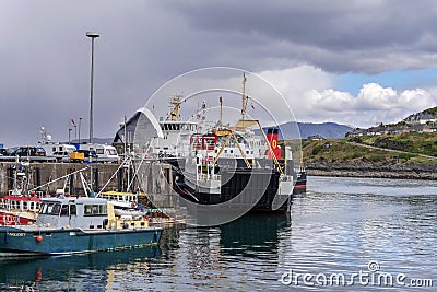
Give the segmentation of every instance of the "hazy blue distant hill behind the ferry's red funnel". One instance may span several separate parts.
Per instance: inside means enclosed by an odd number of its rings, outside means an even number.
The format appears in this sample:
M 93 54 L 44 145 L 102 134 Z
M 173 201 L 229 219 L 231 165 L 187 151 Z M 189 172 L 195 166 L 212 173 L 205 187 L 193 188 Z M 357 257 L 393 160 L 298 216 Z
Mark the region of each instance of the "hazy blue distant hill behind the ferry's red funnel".
M 299 133 L 296 131 L 296 122 L 290 121 L 286 124 L 280 125 L 282 133 L 285 137 L 280 137 L 280 139 L 297 139 L 299 138 Z M 340 125 L 335 122 L 322 122 L 322 124 L 314 124 L 314 122 L 297 122 L 297 127 L 300 132 L 300 138 L 306 139 L 310 136 L 321 136 L 323 138 L 344 138 L 346 132 L 352 131 L 354 128 Z

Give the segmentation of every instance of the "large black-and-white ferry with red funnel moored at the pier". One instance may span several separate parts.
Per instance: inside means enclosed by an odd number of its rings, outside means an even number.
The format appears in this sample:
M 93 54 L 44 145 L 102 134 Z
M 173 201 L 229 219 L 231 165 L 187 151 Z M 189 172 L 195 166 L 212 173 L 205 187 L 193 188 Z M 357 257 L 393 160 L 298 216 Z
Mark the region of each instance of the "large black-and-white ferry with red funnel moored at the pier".
M 184 97 L 175 95 L 169 100 L 173 107 L 167 118 L 157 120 L 149 109 L 141 108 L 118 130 L 114 142 L 133 148 L 133 137 L 150 139 L 143 145 L 147 156 L 173 166 L 169 184 L 190 201 L 221 203 L 245 189 L 260 198 L 252 211 L 290 211 L 291 199 L 277 210 L 272 207 L 273 200 L 276 195 L 305 191 L 306 173 L 294 168 L 290 148 L 279 147 L 279 129 L 263 129 L 258 120 L 246 119 L 247 98 L 243 90 L 240 120 L 235 127 L 223 127 L 223 122 L 209 122 L 205 117 L 182 120 L 179 110 Z M 257 131 L 251 129 L 255 126 Z M 295 183 L 297 188 L 293 187 Z

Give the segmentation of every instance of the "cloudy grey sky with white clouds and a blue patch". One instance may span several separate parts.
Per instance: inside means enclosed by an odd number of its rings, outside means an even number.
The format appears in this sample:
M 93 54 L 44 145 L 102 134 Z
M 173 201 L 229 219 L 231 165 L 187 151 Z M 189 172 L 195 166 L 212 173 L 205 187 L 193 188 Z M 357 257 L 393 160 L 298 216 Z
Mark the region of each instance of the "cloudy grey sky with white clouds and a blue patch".
M 87 31 L 96 137 L 214 66 L 264 78 L 298 121 L 369 127 L 437 105 L 435 1 L 1 0 L 0 143 L 36 143 L 42 126 L 66 141 L 80 117 L 87 137 Z

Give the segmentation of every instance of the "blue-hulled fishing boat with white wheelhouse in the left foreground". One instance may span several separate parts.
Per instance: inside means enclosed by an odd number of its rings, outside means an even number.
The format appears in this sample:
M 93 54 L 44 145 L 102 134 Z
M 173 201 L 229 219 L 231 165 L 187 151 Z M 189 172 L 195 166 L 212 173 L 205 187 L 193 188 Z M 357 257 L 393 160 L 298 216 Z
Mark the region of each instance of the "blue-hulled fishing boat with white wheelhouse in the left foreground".
M 144 218 L 117 217 L 103 198 L 43 198 L 35 224 L 0 226 L 3 255 L 68 255 L 155 245 L 161 227 Z

